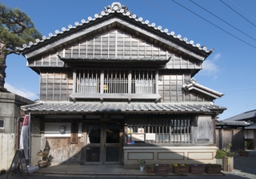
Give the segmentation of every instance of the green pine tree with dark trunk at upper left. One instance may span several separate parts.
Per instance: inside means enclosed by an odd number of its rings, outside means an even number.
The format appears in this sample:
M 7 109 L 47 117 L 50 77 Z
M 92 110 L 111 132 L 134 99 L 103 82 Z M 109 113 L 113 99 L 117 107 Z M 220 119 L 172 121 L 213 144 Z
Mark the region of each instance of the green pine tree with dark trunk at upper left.
M 34 27 L 30 17 L 18 8 L 10 8 L 0 2 L 0 88 L 3 88 L 6 78 L 6 56 L 20 54 L 18 47 L 42 34 Z

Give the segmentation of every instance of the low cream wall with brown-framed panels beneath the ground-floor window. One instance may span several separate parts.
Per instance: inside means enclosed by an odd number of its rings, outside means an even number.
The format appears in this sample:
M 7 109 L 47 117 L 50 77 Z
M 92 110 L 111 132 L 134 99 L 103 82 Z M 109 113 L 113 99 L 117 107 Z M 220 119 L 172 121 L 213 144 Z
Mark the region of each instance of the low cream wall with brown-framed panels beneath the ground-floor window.
M 208 164 L 216 163 L 214 158 L 217 147 L 215 146 L 125 146 L 124 167 L 137 169 L 138 159 L 146 161 L 145 165 L 152 164 Z

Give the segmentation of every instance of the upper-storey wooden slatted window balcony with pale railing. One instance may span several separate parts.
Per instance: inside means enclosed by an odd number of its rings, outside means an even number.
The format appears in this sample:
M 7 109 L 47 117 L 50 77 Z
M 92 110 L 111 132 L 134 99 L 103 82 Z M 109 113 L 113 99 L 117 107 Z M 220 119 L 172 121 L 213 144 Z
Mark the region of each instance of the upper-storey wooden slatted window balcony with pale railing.
M 74 98 L 159 99 L 157 70 L 74 70 Z

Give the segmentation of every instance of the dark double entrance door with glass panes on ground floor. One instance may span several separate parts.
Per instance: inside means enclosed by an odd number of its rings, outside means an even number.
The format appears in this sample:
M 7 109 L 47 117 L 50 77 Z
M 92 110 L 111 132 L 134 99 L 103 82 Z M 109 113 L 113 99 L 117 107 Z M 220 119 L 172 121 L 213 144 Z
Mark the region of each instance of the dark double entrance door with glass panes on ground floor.
M 122 126 L 117 123 L 86 123 L 86 164 L 120 164 Z

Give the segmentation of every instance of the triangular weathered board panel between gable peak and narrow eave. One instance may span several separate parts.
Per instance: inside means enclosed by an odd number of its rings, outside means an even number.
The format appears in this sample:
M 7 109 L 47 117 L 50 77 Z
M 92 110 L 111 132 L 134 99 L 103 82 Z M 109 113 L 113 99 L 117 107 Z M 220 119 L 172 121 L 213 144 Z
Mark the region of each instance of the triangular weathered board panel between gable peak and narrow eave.
M 63 58 L 168 59 L 172 54 L 152 42 L 114 29 L 65 48 Z

